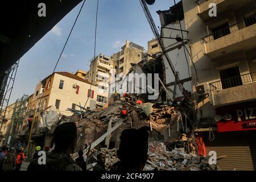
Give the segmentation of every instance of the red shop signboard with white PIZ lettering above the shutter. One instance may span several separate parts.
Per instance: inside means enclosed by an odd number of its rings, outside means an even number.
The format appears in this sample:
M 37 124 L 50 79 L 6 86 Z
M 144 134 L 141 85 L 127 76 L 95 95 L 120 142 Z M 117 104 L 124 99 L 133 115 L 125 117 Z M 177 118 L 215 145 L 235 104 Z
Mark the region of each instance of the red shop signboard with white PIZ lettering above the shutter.
M 218 107 L 218 132 L 256 130 L 256 102 Z

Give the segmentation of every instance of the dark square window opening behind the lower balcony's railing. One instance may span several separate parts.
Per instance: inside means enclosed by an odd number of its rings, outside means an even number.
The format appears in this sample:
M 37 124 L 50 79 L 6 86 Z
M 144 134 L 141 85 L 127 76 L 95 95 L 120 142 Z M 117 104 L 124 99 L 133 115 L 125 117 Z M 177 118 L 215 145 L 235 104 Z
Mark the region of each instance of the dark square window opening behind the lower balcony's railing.
M 220 71 L 222 89 L 242 85 L 239 67 L 232 67 Z

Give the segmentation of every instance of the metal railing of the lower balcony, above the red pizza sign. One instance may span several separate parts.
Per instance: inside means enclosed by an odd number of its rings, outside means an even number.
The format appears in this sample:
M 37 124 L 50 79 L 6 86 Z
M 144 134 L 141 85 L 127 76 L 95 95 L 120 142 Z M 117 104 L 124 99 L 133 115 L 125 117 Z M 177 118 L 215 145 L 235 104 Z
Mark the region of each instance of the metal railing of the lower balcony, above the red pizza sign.
M 256 82 L 256 72 L 240 75 L 236 77 L 226 78 L 221 81 L 212 82 L 209 84 L 209 91 L 227 89 L 234 86 L 249 84 Z

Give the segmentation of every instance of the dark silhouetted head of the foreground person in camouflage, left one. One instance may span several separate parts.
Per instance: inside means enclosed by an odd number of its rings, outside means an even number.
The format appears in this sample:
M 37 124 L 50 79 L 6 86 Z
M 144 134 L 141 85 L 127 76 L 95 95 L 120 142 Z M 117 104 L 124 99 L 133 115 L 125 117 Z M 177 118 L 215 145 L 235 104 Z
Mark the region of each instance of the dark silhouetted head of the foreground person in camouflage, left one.
M 55 152 L 71 154 L 76 147 L 77 129 L 74 122 L 63 123 L 54 131 Z

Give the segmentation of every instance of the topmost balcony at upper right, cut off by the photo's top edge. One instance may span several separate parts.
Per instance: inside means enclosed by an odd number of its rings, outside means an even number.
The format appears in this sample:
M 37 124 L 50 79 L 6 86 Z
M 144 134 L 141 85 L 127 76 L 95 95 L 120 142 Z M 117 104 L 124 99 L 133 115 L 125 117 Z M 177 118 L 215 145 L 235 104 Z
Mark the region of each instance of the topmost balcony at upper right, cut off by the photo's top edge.
M 232 8 L 233 10 L 241 9 L 245 5 L 250 3 L 253 5 L 254 0 L 198 0 L 196 1 L 199 17 L 206 22 L 209 20 L 209 5 L 215 3 L 217 5 L 217 14 L 225 13 Z

